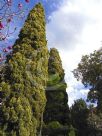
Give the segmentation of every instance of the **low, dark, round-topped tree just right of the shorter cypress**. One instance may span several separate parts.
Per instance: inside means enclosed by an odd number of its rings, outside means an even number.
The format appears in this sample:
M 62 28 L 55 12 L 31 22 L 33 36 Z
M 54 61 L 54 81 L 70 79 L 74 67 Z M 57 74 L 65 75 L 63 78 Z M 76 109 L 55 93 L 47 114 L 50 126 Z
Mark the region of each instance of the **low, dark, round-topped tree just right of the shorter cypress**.
M 71 107 L 72 125 L 77 129 L 77 136 L 87 136 L 88 109 L 83 99 L 78 99 Z

